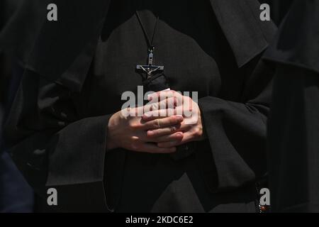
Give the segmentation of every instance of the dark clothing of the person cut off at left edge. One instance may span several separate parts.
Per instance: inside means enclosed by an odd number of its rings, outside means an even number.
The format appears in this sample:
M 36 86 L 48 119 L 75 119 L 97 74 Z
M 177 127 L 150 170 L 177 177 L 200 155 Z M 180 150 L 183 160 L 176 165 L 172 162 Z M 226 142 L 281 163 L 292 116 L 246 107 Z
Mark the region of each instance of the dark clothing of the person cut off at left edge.
M 0 1 L 0 213 L 34 210 L 33 189 L 4 152 L 2 126 L 23 74 L 23 62 L 38 32 L 36 28 L 40 28 L 34 20 L 38 18 L 37 6 L 40 4 L 35 1 Z M 27 21 L 32 24 L 26 26 Z

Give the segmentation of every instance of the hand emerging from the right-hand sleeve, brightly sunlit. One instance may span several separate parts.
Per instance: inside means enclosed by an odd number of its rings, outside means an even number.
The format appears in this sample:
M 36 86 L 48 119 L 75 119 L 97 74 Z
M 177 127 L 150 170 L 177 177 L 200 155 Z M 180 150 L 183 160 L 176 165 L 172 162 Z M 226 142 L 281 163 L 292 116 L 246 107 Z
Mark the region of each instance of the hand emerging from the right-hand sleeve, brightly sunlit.
M 178 131 L 183 133 L 183 138 L 179 141 L 157 143 L 159 148 L 172 148 L 205 138 L 201 110 L 189 96 L 183 96 L 179 92 L 170 90 L 150 94 L 149 101 L 153 103 L 155 108 L 144 114 L 142 117 L 144 121 L 152 121 L 173 114 L 184 116 L 184 121 L 178 127 L 163 127 L 147 131 L 147 137 L 149 138 L 158 138 Z

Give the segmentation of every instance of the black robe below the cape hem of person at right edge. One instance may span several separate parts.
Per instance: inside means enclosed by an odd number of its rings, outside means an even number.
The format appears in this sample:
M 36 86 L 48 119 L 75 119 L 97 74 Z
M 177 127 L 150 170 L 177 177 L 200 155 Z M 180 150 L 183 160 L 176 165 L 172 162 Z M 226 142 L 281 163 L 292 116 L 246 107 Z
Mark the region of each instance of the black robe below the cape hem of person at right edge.
M 319 74 L 279 65 L 269 118 L 274 212 L 319 211 Z

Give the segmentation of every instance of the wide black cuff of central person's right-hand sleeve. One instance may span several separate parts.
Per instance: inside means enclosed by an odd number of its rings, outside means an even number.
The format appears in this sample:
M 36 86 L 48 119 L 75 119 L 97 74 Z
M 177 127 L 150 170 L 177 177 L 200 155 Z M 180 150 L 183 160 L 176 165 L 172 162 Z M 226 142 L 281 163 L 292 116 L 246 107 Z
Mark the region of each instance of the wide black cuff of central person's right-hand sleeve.
M 199 99 L 198 106 L 212 153 L 213 163 L 200 159 L 205 175 L 215 178 L 206 179 L 211 189 L 241 187 L 264 175 L 266 122 L 258 107 L 211 96 Z

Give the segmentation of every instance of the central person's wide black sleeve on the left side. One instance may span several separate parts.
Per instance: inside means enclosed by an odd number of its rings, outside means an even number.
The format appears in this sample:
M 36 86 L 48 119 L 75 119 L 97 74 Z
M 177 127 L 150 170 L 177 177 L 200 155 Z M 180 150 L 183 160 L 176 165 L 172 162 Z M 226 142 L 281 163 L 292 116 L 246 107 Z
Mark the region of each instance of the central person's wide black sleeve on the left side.
M 105 211 L 104 156 L 111 116 L 81 118 L 75 96 L 26 70 L 6 123 L 6 145 L 38 194 L 47 198 L 53 187 L 63 209 Z

